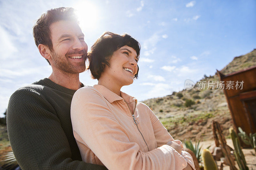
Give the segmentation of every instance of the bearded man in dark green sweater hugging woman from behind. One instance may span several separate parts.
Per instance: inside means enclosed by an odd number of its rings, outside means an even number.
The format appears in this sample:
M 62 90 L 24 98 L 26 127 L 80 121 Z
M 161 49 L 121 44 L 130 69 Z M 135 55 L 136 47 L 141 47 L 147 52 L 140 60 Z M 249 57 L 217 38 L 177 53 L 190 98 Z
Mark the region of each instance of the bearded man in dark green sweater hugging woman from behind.
M 21 169 L 107 169 L 82 161 L 73 136 L 71 100 L 85 70 L 87 44 L 73 8 L 51 9 L 33 28 L 52 74 L 21 87 L 10 98 L 7 129 Z M 84 129 L 86 130 L 86 129 Z

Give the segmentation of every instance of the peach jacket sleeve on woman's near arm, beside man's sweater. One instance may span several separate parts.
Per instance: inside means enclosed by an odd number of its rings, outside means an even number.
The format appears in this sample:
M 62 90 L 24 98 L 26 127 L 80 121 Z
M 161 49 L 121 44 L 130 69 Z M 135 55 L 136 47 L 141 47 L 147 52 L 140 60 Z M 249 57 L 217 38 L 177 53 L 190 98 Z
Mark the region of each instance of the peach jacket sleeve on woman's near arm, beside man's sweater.
M 78 142 L 90 148 L 110 170 L 181 170 L 187 166 L 186 160 L 169 145 L 142 152 L 137 143 L 130 142 L 129 129 L 119 124 L 104 97 L 92 88 L 81 88 L 75 93 L 71 121 Z

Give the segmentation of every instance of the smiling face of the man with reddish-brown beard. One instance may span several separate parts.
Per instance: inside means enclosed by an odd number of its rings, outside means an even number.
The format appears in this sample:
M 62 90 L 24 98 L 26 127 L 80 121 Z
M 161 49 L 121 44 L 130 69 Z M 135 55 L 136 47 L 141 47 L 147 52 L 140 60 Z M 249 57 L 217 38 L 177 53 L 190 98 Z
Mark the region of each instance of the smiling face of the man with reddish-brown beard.
M 88 46 L 78 24 L 60 20 L 50 26 L 52 36 L 52 69 L 77 74 L 85 70 Z

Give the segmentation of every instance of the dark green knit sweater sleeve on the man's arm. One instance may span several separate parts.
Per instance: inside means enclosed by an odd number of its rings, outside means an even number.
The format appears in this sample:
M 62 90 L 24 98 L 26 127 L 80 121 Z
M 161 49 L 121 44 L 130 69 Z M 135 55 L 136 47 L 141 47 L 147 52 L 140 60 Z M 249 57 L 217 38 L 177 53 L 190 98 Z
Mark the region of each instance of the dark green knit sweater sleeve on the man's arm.
M 19 89 L 12 94 L 7 130 L 21 169 L 106 169 L 71 159 L 68 139 L 54 113 L 54 108 L 36 91 Z

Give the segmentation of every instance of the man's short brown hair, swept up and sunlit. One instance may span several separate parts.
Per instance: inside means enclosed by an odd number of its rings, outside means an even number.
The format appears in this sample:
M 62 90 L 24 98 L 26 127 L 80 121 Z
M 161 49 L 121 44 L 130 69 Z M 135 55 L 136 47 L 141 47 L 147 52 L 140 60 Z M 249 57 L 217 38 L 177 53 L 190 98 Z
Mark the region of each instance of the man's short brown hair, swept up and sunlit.
M 36 47 L 38 47 L 39 44 L 43 44 L 52 51 L 50 26 L 52 23 L 58 22 L 60 20 L 75 21 L 78 24 L 75 9 L 60 7 L 48 10 L 46 13 L 42 14 L 33 27 L 33 36 L 35 39 Z M 48 60 L 47 62 L 50 64 Z

